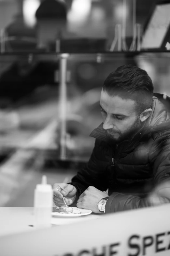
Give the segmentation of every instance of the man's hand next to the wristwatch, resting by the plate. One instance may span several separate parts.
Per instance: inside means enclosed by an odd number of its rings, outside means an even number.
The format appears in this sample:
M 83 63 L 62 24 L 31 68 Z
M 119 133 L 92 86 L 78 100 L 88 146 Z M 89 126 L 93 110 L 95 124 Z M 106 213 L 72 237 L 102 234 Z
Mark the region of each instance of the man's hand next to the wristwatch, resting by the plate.
M 102 192 L 90 186 L 79 196 L 77 207 L 92 210 L 93 213 L 100 213 L 98 210 L 98 202 L 106 196 L 108 195 L 105 191 Z

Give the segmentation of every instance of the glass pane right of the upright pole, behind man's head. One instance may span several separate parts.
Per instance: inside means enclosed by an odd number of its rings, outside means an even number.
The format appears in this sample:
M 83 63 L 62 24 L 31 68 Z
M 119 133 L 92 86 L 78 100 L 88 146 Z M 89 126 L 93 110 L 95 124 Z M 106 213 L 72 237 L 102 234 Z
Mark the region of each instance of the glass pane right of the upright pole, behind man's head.
M 67 85 L 67 157 L 88 161 L 89 134 L 102 123 L 99 101 L 106 77 L 121 65 L 137 65 L 152 78 L 154 92 L 170 94 L 170 53 L 70 54 Z

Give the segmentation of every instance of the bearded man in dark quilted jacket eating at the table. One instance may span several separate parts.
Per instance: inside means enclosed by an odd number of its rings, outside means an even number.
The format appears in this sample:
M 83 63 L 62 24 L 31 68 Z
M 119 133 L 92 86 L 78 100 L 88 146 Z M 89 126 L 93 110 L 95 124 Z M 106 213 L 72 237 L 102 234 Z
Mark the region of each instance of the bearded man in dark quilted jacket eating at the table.
M 100 107 L 103 123 L 90 135 L 96 138 L 91 158 L 71 183 L 53 185 L 56 206 L 64 205 L 63 196 L 94 213 L 170 202 L 170 98 L 153 94 L 147 72 L 128 65 L 106 78 Z M 166 187 L 148 196 L 162 182 Z

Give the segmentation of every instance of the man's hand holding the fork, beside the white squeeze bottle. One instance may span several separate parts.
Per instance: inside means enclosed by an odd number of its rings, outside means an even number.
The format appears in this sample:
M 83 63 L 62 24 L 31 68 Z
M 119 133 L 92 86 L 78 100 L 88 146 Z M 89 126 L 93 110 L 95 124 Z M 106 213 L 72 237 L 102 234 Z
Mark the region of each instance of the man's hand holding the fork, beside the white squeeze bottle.
M 60 193 L 56 188 L 60 187 L 62 192 Z M 76 198 L 77 189 L 70 184 L 66 183 L 55 183 L 52 185 L 53 188 L 53 202 L 56 206 L 65 206 L 63 197 L 67 205 L 74 202 Z

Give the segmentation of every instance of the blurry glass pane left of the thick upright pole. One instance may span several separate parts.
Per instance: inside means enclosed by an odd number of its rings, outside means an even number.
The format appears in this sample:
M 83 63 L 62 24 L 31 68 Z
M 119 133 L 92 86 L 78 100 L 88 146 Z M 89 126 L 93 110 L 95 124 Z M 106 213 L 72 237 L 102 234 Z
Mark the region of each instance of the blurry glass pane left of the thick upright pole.
M 0 56 L 2 159 L 27 147 L 42 150 L 48 159 L 57 149 L 58 70 L 57 55 Z

